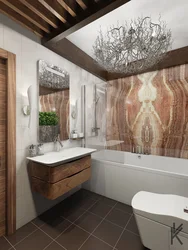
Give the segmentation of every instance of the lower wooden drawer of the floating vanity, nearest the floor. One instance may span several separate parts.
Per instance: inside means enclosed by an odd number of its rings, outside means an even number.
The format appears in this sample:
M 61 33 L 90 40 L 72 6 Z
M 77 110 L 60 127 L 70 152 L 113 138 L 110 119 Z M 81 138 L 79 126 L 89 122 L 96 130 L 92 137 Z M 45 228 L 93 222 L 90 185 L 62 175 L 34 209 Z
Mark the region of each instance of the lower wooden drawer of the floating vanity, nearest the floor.
M 42 194 L 47 199 L 54 200 L 76 186 L 79 186 L 83 182 L 89 180 L 90 177 L 91 168 L 87 168 L 56 183 L 49 183 L 32 177 L 32 190 Z

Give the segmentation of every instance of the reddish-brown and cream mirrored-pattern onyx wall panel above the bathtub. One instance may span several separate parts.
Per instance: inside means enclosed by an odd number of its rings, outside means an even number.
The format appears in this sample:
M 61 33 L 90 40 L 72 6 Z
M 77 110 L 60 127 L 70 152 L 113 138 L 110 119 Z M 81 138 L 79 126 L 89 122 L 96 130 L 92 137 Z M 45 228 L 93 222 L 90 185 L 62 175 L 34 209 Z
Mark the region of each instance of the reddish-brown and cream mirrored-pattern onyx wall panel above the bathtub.
M 188 65 L 108 82 L 108 149 L 188 158 Z

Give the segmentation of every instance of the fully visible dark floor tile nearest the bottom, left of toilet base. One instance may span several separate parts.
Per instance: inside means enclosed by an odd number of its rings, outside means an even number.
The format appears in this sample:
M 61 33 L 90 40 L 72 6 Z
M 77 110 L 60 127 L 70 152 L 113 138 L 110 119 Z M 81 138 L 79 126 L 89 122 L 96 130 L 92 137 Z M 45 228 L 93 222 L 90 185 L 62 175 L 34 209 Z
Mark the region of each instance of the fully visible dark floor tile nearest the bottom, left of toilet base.
M 110 222 L 103 221 L 94 231 L 93 235 L 97 236 L 99 239 L 104 240 L 111 246 L 114 246 L 122 231 L 123 228 L 120 228 Z

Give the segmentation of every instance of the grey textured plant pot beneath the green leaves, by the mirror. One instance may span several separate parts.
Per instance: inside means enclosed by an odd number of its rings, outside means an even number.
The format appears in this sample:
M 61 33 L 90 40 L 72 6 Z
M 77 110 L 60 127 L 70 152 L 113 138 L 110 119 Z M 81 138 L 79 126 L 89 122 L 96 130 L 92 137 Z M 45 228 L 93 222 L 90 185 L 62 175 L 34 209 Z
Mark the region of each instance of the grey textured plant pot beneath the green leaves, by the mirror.
M 39 141 L 53 142 L 55 137 L 60 133 L 59 125 L 56 126 L 39 126 Z

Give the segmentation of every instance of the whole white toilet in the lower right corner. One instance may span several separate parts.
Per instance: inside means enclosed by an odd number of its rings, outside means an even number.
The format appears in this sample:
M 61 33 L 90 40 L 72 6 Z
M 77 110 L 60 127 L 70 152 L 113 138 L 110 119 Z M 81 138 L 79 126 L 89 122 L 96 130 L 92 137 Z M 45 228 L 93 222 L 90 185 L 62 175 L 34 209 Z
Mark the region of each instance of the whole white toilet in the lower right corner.
M 141 191 L 132 207 L 145 247 L 188 250 L 188 198 Z

